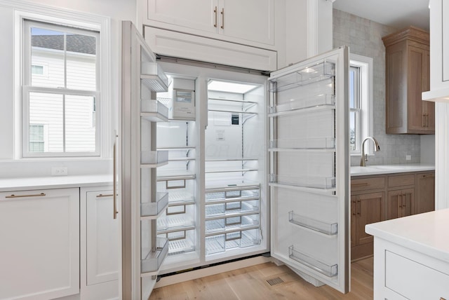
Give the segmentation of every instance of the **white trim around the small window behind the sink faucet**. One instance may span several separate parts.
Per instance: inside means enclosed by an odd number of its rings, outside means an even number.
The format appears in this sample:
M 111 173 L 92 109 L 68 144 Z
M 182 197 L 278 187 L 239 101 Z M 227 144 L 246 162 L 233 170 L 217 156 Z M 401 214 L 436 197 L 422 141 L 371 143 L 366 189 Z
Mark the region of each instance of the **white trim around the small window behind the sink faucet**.
M 361 141 L 363 141 L 366 137 L 372 137 L 374 131 L 373 58 L 351 53 L 349 64 L 360 68 Z M 366 152 L 368 155 L 374 155 L 372 149 L 367 149 Z M 353 152 L 351 156 L 361 156 L 361 152 Z

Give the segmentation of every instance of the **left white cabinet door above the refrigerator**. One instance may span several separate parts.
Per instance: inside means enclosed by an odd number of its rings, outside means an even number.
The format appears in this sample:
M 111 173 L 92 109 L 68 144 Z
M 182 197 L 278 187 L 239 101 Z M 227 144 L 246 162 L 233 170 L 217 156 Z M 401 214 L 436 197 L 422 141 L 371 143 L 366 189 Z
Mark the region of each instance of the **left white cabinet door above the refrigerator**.
M 218 0 L 147 0 L 148 20 L 217 33 Z

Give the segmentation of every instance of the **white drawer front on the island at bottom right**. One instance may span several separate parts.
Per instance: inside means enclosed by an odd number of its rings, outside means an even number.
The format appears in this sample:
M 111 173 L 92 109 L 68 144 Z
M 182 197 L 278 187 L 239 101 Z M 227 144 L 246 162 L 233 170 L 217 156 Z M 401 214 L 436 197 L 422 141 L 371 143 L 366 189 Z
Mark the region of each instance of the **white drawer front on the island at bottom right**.
M 449 275 L 385 252 L 385 287 L 407 299 L 449 299 Z

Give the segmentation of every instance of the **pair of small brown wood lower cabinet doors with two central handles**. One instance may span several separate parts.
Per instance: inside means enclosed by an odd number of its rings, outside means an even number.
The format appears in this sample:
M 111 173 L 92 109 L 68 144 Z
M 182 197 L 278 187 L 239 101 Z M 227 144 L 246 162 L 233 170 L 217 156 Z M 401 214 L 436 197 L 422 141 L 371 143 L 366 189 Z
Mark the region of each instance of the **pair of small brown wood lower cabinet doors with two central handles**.
M 415 188 L 389 191 L 387 203 L 387 219 L 410 216 L 415 211 Z

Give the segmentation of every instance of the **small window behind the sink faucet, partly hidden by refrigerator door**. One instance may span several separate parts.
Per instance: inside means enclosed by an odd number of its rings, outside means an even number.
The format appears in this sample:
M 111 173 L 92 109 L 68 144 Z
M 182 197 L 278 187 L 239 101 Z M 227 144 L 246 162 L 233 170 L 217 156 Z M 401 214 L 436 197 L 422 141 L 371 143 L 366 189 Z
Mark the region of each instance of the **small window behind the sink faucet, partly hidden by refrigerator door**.
M 351 155 L 361 155 L 362 140 L 373 135 L 373 58 L 371 57 L 351 54 L 349 110 L 349 150 Z

